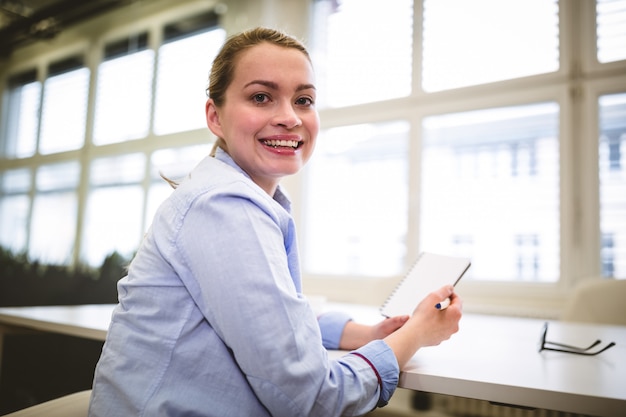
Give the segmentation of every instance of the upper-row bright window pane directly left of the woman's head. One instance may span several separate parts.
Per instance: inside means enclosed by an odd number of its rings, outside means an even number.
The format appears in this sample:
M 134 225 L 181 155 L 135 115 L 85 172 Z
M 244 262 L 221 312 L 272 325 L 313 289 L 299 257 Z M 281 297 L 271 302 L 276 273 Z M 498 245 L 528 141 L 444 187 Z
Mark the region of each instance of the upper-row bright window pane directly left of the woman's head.
M 206 127 L 208 73 L 225 36 L 223 29 L 216 29 L 161 46 L 154 133 Z

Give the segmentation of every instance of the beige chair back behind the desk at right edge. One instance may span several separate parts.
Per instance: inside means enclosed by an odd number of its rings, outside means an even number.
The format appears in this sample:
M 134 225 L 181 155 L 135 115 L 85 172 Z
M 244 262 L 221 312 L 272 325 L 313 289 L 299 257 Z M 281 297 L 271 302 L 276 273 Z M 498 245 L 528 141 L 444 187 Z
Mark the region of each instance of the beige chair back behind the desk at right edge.
M 626 325 L 626 280 L 593 279 L 581 282 L 568 299 L 561 319 Z

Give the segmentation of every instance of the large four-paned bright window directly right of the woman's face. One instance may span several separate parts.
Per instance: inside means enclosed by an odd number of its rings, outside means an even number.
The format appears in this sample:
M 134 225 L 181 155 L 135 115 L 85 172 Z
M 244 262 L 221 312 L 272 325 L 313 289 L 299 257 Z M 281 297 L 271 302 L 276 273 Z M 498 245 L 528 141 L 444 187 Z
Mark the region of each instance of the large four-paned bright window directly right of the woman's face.
M 407 114 L 393 99 L 414 94 L 419 100 L 411 115 L 403 117 L 414 118 L 415 123 L 404 124 L 400 136 L 408 142 L 395 144 L 397 134 L 373 133 L 373 126 L 384 122 L 359 122 L 371 114 L 346 111 L 346 117 L 340 118 L 349 120 L 345 126 L 333 118 L 332 123 L 339 126 L 322 133 L 305 179 L 305 271 L 401 274 L 419 251 L 429 250 L 470 256 L 469 279 L 557 282 L 561 262 L 559 104 L 530 99 L 525 105 L 497 105 L 499 99 L 487 98 L 493 95 L 486 90 L 487 94 L 473 96 L 491 101 L 491 106 L 477 103 L 466 106 L 473 110 L 459 112 L 453 110 L 457 96 L 437 93 L 557 72 L 558 3 L 425 0 L 422 13 L 415 15 L 404 2 L 384 7 L 358 3 L 356 10 L 350 1 L 316 2 L 315 19 L 320 26 L 315 27 L 328 28 L 321 34 L 314 31 L 314 63 L 321 59 L 317 72 L 325 77 L 320 88 L 320 94 L 327 94 L 323 104 L 349 108 L 387 100 L 379 106 L 388 115 L 384 117 L 391 118 L 394 112 Z M 363 17 L 367 13 L 377 17 L 368 20 Z M 382 17 L 394 13 L 398 13 L 395 18 Z M 408 25 L 422 30 L 422 36 L 415 38 L 421 39 L 421 45 L 408 41 L 412 29 L 402 29 L 405 18 L 399 14 L 423 17 L 422 22 Z M 347 24 L 351 19 L 360 24 Z M 378 43 L 361 33 L 363 26 L 376 27 L 372 32 L 393 57 L 381 58 Z M 392 31 L 396 33 L 393 40 L 386 37 Z M 421 70 L 401 76 L 397 69 L 387 68 L 382 70 L 386 76 L 379 75 L 376 64 L 351 61 L 358 48 L 354 44 L 366 45 L 367 51 L 357 54 L 366 57 L 362 59 L 393 62 L 394 67 L 405 69 L 419 66 Z M 421 62 L 413 63 L 415 50 L 421 52 Z M 345 65 L 344 69 L 339 65 Z M 350 77 L 339 81 L 336 74 L 342 72 Z M 416 76 L 421 77 L 412 79 Z M 333 77 L 337 77 L 336 84 Z M 409 78 L 412 82 L 406 81 Z M 383 79 L 389 91 L 398 93 L 378 95 L 376 89 Z M 350 85 L 361 89 L 348 90 Z M 411 92 L 410 85 L 421 85 L 426 95 Z M 519 93 L 514 88 L 508 90 L 512 96 Z M 435 107 L 438 110 L 433 114 Z M 333 113 L 328 109 L 322 116 L 325 114 Z M 418 132 L 411 127 L 420 125 Z M 360 142 L 370 137 L 378 147 Z M 344 151 L 344 144 L 353 142 L 357 145 Z M 367 153 L 368 165 L 352 156 L 366 150 L 373 150 Z M 388 154 L 394 158 L 387 159 Z M 360 167 L 367 168 L 362 171 Z M 358 191 L 353 195 L 347 191 L 350 188 Z M 372 196 L 372 190 L 378 193 L 381 189 L 389 190 L 388 199 Z M 412 197 L 415 193 L 417 198 Z M 360 200 L 359 195 L 370 200 Z M 410 210 L 409 199 L 413 201 Z M 377 210 L 378 216 L 365 217 Z M 415 226 L 409 229 L 410 225 Z M 411 236 L 412 230 L 417 239 Z M 376 243 L 366 248 L 365 242 Z

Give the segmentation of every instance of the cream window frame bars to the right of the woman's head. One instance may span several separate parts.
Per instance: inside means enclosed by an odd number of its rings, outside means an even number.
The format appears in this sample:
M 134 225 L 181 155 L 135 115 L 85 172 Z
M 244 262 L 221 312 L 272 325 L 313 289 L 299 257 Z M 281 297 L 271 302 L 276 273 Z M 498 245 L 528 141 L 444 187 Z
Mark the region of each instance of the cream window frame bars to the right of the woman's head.
M 340 109 L 320 110 L 324 128 L 359 124 L 364 121 L 407 119 L 411 123 L 409 169 L 412 181 L 409 205 L 419 204 L 420 129 L 424 117 L 554 101 L 560 107 L 560 277 L 555 283 L 462 281 L 459 292 L 471 310 L 486 313 L 558 317 L 560 307 L 572 288 L 585 279 L 600 279 L 600 228 L 598 175 L 598 108 L 600 94 L 620 92 L 626 85 L 616 76 L 626 67 L 625 61 L 599 64 L 595 46 L 595 3 L 559 2 L 559 69 L 553 73 L 480 86 L 425 93 L 421 89 L 421 2 L 415 1 L 413 94 L 389 100 L 384 106 L 367 103 Z M 421 25 L 421 24 L 419 24 Z M 584 47 L 581 48 L 581 45 Z M 591 81 L 587 79 L 591 78 Z M 596 80 L 597 78 L 597 80 Z M 601 92 L 595 91 L 602 85 Z M 586 94 L 585 91 L 592 94 Z M 594 92 L 595 91 L 595 92 Z M 592 97 L 590 97 L 592 95 Z M 595 101 L 594 101 L 595 100 Z M 382 107 L 382 108 L 380 108 Z M 411 114 L 411 110 L 413 113 Z M 584 112 L 593 115 L 580 117 Z M 584 140 L 595 138 L 596 140 Z M 581 145 L 582 144 L 582 145 Z M 582 164 L 582 165 L 581 165 Z M 584 166 L 583 169 L 579 169 Z M 407 252 L 416 254 L 419 242 L 419 213 L 409 211 Z M 589 254 L 592 254 L 591 256 Z M 406 262 L 410 264 L 410 256 Z M 406 265 L 408 269 L 409 265 Z M 359 277 L 316 276 L 305 273 L 305 287 L 324 294 L 324 288 L 336 286 L 342 300 L 379 303 L 401 277 L 374 279 Z M 358 280 L 358 281 L 355 281 Z M 338 282 L 339 281 L 339 282 Z M 358 285 L 354 285 L 358 282 Z M 363 285 L 366 282 L 367 285 Z M 380 294 L 383 294 L 382 296 Z

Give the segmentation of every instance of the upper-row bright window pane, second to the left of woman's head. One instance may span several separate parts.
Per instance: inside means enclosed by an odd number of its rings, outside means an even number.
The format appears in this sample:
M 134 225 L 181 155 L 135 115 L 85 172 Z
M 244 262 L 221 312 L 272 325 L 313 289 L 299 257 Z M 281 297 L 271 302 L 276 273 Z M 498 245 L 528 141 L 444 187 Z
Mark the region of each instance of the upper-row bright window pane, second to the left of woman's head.
M 96 145 L 148 135 L 154 52 L 104 61 L 98 68 L 93 141 Z

